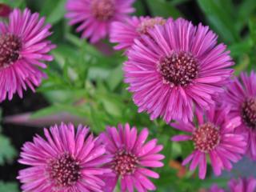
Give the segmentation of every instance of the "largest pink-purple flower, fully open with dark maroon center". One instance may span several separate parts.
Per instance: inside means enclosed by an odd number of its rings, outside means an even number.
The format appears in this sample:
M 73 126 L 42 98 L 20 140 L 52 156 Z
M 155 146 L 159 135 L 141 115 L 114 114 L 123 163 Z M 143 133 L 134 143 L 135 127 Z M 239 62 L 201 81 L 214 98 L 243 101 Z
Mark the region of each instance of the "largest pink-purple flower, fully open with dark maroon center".
M 138 111 L 166 122 L 192 121 L 194 107 L 209 109 L 230 79 L 230 52 L 208 26 L 182 18 L 149 34 L 134 40 L 124 66 Z

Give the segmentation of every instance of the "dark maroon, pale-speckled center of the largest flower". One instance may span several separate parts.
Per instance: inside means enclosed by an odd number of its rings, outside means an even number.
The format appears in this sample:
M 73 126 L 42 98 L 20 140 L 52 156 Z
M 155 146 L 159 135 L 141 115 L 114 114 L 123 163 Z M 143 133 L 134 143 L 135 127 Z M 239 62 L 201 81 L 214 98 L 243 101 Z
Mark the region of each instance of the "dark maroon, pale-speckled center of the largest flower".
M 198 60 L 184 51 L 160 58 L 157 67 L 163 83 L 170 86 L 187 86 L 198 76 Z

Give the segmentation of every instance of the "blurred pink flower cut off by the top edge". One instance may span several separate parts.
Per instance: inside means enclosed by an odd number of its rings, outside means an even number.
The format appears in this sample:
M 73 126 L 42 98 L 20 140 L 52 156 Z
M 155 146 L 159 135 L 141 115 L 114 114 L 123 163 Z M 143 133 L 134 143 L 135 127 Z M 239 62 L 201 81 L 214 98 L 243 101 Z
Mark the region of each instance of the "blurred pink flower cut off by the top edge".
M 134 12 L 135 0 L 68 0 L 66 18 L 70 25 L 79 24 L 77 31 L 82 31 L 82 38 L 98 42 L 105 38 L 114 21 L 124 21 Z

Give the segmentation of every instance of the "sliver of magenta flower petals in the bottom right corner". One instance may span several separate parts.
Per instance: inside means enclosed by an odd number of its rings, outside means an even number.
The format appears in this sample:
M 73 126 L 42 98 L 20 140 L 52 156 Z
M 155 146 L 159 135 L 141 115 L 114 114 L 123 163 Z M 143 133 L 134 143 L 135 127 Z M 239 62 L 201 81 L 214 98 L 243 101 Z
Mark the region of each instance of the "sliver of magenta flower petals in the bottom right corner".
M 256 191 L 255 178 L 238 178 L 229 182 L 230 192 L 254 192 Z

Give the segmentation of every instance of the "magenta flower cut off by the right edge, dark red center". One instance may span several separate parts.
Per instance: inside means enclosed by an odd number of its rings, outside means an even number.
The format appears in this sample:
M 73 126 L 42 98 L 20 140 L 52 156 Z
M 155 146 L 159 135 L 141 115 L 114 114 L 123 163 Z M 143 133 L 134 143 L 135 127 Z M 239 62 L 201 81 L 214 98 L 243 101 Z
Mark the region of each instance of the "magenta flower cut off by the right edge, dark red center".
M 256 74 L 242 73 L 228 86 L 223 101 L 230 106 L 232 116 L 240 116 L 242 124 L 238 131 L 247 136 L 247 153 L 256 159 Z

